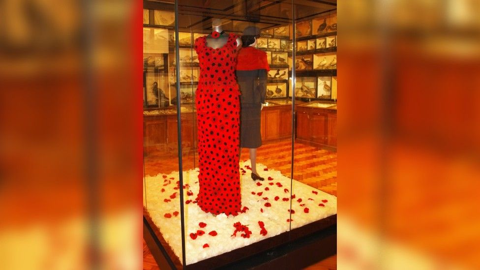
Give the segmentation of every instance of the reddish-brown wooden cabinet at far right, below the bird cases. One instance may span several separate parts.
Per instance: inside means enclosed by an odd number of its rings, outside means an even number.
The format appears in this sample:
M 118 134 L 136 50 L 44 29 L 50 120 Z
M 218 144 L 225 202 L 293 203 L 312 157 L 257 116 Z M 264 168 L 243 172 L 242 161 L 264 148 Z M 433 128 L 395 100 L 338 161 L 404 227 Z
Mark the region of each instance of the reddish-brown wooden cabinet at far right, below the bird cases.
M 318 146 L 336 147 L 336 111 L 297 107 L 296 139 Z

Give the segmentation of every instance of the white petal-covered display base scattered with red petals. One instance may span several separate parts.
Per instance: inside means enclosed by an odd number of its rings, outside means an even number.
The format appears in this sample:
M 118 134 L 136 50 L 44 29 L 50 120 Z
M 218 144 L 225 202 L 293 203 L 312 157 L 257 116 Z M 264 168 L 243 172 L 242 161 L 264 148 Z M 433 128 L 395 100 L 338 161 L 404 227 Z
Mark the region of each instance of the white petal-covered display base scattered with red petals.
M 264 170 L 266 166 L 262 164 L 257 164 L 257 172 L 265 180 L 253 181 L 250 177 L 251 171 L 247 169 L 249 166 L 250 160 L 240 162 L 241 206 L 247 207 L 248 210 L 237 216 L 225 214 L 214 216 L 202 211 L 194 203 L 199 190 L 198 168 L 183 171 L 183 184 L 186 187 L 183 190 L 183 201 L 187 265 L 279 235 L 289 231 L 290 225 L 291 229 L 295 229 L 336 214 L 337 198 L 335 196 L 297 180 L 292 181 L 292 191 L 290 191 L 290 178 L 270 168 L 266 171 Z M 242 173 L 242 169 L 245 173 Z M 172 172 L 168 175 L 147 176 L 144 184 L 146 209 L 163 238 L 181 258 L 180 189 L 175 189 L 178 186 L 177 181 L 179 181 L 179 173 Z M 193 195 L 188 195 L 192 193 Z M 292 202 L 290 202 L 290 196 L 294 197 L 291 199 Z M 275 201 L 275 197 L 278 197 L 278 200 Z M 191 202 L 186 204 L 189 200 Z M 270 206 L 267 203 L 270 203 Z M 293 210 L 291 217 L 290 203 Z M 166 217 L 169 214 L 171 217 Z M 268 232 L 265 236 L 260 234 L 259 221 L 265 224 Z M 200 222 L 207 225 L 201 228 Z M 242 232 L 237 233 L 236 237 L 232 236 L 236 222 L 248 226 L 249 231 L 252 232 L 249 238 L 241 237 Z M 196 239 L 192 239 L 190 234 L 196 234 L 198 230 L 205 234 L 197 235 Z M 215 231 L 217 235 L 209 235 L 211 231 Z M 208 247 L 204 247 L 205 244 L 208 244 Z

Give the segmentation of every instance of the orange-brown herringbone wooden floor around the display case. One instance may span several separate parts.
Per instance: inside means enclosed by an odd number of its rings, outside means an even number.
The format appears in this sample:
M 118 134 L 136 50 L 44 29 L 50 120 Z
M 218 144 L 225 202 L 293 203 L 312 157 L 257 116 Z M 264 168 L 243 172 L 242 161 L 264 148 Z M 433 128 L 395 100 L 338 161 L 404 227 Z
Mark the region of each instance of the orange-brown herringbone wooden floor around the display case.
M 190 151 L 182 156 L 183 170 L 197 167 L 196 153 Z M 249 159 L 248 149 L 241 151 L 240 160 Z M 145 174 L 155 176 L 158 173 L 179 171 L 176 157 L 146 157 L 144 159 Z M 306 183 L 332 195 L 337 195 L 337 155 L 336 152 L 317 147 L 295 143 L 294 146 L 294 179 Z M 257 162 L 279 170 L 290 177 L 292 172 L 292 142 L 281 141 L 264 144 L 257 150 Z M 261 174 L 261 172 L 259 172 Z M 158 266 L 144 241 L 144 270 L 158 270 Z M 307 270 L 336 270 L 336 255 L 306 268 Z

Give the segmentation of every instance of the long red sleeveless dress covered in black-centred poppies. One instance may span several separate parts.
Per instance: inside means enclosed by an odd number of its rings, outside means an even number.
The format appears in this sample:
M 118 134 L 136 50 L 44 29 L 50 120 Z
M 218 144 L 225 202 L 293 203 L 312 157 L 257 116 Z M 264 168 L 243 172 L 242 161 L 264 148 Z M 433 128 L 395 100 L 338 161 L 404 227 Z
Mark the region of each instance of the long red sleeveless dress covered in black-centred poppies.
M 205 212 L 240 212 L 239 126 L 240 91 L 235 78 L 237 35 L 229 34 L 221 48 L 195 40 L 200 78 L 195 92 L 198 126 L 200 191 L 198 206 Z

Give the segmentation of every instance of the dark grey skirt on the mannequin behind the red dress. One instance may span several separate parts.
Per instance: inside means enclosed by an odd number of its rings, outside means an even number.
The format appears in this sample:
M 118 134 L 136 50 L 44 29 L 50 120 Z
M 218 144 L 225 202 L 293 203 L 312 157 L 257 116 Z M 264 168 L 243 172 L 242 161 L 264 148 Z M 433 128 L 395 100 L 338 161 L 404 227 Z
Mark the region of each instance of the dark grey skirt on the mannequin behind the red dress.
M 260 107 L 260 103 L 241 103 L 240 147 L 242 148 L 259 148 L 262 146 Z

